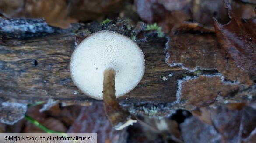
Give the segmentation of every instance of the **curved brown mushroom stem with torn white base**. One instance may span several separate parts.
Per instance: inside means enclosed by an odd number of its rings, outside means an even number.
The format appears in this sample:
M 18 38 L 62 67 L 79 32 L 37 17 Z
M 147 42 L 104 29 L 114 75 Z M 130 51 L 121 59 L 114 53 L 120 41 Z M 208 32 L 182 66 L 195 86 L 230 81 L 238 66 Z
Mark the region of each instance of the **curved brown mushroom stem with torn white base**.
M 116 130 L 121 130 L 126 126 L 136 123 L 137 120 L 131 119 L 130 113 L 123 109 L 115 95 L 115 70 L 113 68 L 108 68 L 104 70 L 103 79 L 103 101 L 105 107 L 105 113 Z

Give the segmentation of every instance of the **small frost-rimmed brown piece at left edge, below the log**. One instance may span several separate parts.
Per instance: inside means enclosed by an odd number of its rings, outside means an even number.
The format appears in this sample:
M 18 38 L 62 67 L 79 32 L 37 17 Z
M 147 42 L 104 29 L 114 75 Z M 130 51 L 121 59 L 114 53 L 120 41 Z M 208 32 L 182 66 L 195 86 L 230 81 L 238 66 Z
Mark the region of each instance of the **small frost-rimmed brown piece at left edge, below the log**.
M 2 123 L 13 125 L 24 118 L 27 111 L 27 104 L 15 102 L 2 102 L 0 106 L 0 121 Z

